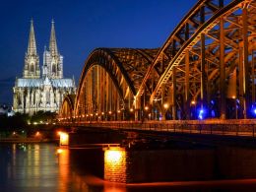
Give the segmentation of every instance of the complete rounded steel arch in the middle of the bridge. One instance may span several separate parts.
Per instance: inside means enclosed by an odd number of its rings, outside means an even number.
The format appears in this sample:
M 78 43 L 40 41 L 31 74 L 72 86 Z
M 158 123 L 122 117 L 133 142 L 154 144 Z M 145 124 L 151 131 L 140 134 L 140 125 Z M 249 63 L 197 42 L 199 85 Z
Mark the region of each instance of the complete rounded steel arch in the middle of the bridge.
M 87 59 L 76 97 L 75 116 L 129 119 L 134 96 L 158 49 L 97 48 Z

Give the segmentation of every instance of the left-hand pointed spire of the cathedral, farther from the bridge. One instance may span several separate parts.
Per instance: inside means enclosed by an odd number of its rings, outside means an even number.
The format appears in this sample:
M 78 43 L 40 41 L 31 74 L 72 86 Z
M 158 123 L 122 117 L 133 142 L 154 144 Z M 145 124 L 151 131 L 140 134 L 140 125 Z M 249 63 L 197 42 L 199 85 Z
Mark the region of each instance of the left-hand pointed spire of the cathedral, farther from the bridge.
M 23 72 L 24 78 L 40 78 L 39 56 L 36 52 L 33 23 L 31 22 L 31 32 L 29 39 L 28 51 L 25 55 L 25 66 Z

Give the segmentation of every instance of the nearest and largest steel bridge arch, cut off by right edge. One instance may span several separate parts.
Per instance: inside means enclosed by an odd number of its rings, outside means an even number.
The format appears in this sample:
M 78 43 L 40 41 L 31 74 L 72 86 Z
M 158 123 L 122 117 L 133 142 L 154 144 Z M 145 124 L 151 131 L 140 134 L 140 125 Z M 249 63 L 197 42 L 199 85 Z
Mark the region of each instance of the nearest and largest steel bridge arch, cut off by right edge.
M 238 116 L 246 118 L 251 100 L 255 102 L 255 84 L 250 84 L 255 68 L 255 12 L 252 0 L 198 1 L 160 48 L 136 97 L 150 95 L 163 119 L 197 118 L 191 111 L 196 107 L 212 107 L 215 117 L 233 118 L 226 116 L 231 107 L 226 102 L 238 99 L 244 103 Z M 230 80 L 238 72 L 239 84 L 233 88 Z M 230 90 L 232 94 L 227 93 Z

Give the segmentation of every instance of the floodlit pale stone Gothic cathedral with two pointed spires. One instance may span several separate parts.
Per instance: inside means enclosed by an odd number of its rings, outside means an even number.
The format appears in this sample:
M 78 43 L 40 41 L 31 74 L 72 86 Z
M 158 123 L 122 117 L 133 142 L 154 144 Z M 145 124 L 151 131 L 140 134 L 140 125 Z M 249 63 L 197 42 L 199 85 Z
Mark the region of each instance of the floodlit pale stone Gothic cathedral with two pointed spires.
M 75 80 L 63 78 L 63 56 L 58 52 L 54 22 L 51 22 L 49 49 L 44 47 L 42 66 L 36 51 L 33 23 L 28 51 L 25 55 L 23 77 L 15 82 L 13 108 L 15 112 L 57 112 L 63 97 L 75 94 Z

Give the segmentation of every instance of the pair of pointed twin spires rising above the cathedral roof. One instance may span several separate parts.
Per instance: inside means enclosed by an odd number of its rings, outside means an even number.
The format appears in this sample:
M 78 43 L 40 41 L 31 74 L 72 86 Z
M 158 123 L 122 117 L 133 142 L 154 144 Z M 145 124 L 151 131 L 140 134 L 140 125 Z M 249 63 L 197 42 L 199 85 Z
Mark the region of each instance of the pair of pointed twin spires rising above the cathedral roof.
M 43 55 L 47 55 L 47 58 L 46 57 L 43 58 L 44 66 L 43 66 L 42 75 L 45 76 L 45 74 L 48 74 L 52 76 L 52 78 L 62 78 L 63 57 L 58 53 L 53 20 L 51 22 L 49 51 L 44 50 Z M 45 68 L 45 65 L 47 65 L 46 68 Z M 40 78 L 39 56 L 37 55 L 37 51 L 36 51 L 33 21 L 31 21 L 29 46 L 25 56 L 24 78 Z

